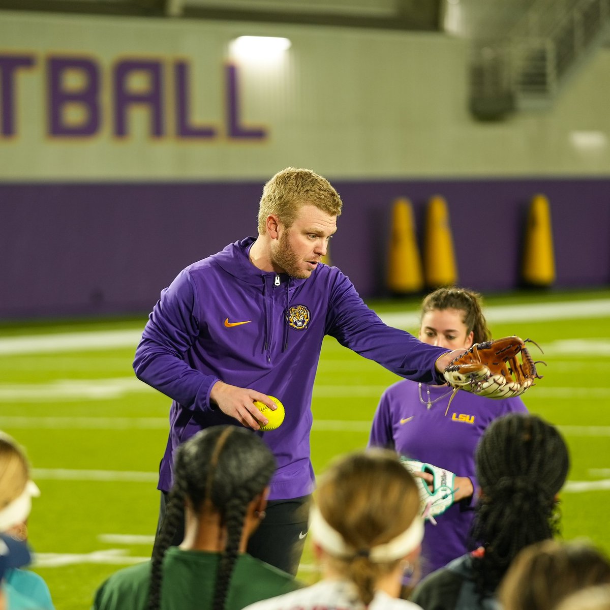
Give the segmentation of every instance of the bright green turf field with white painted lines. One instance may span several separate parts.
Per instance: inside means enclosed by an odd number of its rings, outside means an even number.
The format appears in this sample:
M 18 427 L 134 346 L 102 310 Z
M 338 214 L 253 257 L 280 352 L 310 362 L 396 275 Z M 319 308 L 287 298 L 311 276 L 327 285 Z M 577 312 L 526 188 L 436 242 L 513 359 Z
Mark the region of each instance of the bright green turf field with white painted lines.
M 416 330 L 417 300 L 371 306 Z M 531 337 L 545 350 L 544 379 L 523 398 L 562 426 L 570 445 L 564 537 L 610 551 L 610 291 L 490 296 L 486 306 L 493 336 Z M 151 552 L 170 401 L 131 368 L 145 321 L 0 325 L 0 429 L 27 448 L 34 467 L 42 492 L 30 517 L 34 569 L 58 610 L 89 608 L 107 575 Z M 325 340 L 314 390 L 316 472 L 364 447 L 379 395 L 397 379 Z M 308 547 L 302 566 L 303 580 L 315 578 Z

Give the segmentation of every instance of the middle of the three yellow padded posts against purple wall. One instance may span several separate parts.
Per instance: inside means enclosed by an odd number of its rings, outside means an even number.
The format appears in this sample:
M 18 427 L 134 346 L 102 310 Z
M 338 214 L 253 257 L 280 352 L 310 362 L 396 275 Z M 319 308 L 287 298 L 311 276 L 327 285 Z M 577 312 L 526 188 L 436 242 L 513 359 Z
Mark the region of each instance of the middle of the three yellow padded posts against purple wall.
M 435 195 L 428 202 L 424 239 L 424 269 L 426 286 L 453 285 L 458 281 L 458 269 L 453 248 L 447 201 Z

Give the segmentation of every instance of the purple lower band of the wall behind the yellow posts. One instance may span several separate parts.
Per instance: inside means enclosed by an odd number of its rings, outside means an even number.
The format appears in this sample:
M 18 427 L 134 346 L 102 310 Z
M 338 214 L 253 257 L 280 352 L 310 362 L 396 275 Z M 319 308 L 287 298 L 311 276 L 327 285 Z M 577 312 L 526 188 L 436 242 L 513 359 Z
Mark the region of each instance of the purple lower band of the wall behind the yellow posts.
M 556 286 L 610 283 L 610 179 L 331 181 L 344 203 L 332 263 L 365 298 L 386 292 L 400 196 L 412 201 L 418 235 L 429 197 L 447 199 L 459 284 L 519 285 L 536 193 L 551 203 Z M 263 182 L 0 184 L 0 318 L 148 311 L 183 267 L 254 234 Z

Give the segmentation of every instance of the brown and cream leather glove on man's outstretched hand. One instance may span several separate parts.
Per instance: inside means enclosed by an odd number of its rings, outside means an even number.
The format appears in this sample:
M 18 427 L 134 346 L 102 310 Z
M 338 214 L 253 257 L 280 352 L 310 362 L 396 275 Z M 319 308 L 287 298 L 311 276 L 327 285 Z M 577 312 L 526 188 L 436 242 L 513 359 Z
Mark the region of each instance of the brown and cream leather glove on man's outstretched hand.
M 525 343 L 531 339 L 517 336 L 475 343 L 470 350 L 454 358 L 445 368 L 448 384 L 489 398 L 519 396 L 542 378 Z M 537 345 L 537 343 L 534 343 Z M 539 348 L 540 349 L 540 348 Z M 519 359 L 519 354 L 521 359 Z

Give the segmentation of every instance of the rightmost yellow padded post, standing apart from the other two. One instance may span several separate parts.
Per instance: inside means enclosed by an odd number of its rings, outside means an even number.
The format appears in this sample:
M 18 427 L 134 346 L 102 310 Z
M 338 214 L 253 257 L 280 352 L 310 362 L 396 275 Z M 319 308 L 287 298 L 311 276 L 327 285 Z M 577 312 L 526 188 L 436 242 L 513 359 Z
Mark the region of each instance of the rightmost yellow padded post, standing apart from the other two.
M 534 195 L 529 206 L 523 244 L 523 281 L 550 286 L 555 281 L 551 210 L 545 195 Z

